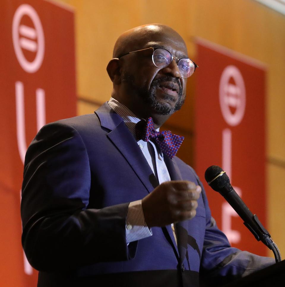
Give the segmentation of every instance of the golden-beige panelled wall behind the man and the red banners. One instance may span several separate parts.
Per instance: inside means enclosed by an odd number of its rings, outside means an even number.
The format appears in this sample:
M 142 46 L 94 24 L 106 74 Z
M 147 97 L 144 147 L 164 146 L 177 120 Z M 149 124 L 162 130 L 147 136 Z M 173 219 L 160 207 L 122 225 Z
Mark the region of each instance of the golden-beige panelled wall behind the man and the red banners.
M 194 59 L 193 36 L 199 36 L 267 65 L 267 227 L 281 251 L 285 250 L 285 16 L 254 0 L 56 1 L 71 5 L 76 13 L 78 114 L 92 113 L 110 98 L 106 66 L 113 45 L 118 35 L 137 25 L 170 25 L 185 39 Z M 191 83 L 186 101 L 190 111 Z M 181 115 L 166 125 L 173 131 L 182 129 L 187 149 L 193 151 L 194 119 L 188 114 L 190 127 L 181 127 Z M 191 153 L 182 150 L 181 154 L 193 163 Z

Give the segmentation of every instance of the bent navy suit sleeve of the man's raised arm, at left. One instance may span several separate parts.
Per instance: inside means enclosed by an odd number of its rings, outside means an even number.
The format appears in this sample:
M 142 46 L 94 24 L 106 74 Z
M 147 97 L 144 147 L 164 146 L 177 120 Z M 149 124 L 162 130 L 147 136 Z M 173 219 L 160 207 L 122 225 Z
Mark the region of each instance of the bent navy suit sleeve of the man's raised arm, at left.
M 132 257 L 125 232 L 129 203 L 88 209 L 90 178 L 79 133 L 60 123 L 43 127 L 26 153 L 21 202 L 22 244 L 37 270 Z

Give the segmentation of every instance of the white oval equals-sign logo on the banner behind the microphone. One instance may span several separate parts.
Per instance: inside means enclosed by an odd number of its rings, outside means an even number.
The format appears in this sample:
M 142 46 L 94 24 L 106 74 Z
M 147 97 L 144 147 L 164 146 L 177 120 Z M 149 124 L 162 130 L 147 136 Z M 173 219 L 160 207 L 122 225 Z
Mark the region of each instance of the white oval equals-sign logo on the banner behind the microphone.
M 227 66 L 220 79 L 219 98 L 224 120 L 231 126 L 243 119 L 246 108 L 246 88 L 240 70 Z

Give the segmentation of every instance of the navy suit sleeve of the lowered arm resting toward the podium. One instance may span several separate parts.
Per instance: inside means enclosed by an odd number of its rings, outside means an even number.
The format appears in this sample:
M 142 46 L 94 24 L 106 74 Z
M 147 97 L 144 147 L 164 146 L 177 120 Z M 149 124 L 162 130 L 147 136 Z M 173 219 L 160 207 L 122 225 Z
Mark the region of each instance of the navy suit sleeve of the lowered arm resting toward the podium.
M 216 282 L 219 285 L 274 264 L 275 260 L 273 258 L 258 256 L 231 247 L 226 235 L 219 230 L 216 221 L 211 216 L 205 189 L 197 175 L 196 177 L 198 184 L 202 187 L 201 196 L 206 211 L 201 278 L 208 282 Z M 215 278 L 215 281 L 212 280 L 213 278 Z

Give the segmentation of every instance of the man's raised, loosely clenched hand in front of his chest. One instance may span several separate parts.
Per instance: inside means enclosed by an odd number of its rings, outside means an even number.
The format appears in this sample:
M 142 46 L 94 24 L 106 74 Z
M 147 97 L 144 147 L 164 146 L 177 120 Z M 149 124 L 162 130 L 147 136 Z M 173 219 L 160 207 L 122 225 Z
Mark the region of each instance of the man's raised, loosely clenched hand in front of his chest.
M 162 227 L 196 215 L 201 186 L 191 181 L 166 181 L 142 200 L 148 227 Z

